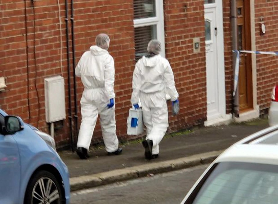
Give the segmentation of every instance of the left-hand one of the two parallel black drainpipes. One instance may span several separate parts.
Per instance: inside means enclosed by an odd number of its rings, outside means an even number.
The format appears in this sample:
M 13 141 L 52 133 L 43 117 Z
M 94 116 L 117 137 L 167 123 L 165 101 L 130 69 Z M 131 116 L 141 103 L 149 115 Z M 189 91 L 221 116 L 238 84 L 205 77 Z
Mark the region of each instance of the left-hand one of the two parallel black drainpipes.
M 71 146 L 72 146 L 72 152 L 74 152 L 74 146 L 73 146 L 73 138 L 72 138 L 72 100 L 70 97 L 70 65 L 69 65 L 69 34 L 68 34 L 68 16 L 67 16 L 67 0 L 65 0 L 65 6 L 66 6 L 66 36 L 67 36 L 67 71 L 68 71 L 68 94 L 69 94 L 69 134 L 70 134 L 70 140 L 71 140 Z

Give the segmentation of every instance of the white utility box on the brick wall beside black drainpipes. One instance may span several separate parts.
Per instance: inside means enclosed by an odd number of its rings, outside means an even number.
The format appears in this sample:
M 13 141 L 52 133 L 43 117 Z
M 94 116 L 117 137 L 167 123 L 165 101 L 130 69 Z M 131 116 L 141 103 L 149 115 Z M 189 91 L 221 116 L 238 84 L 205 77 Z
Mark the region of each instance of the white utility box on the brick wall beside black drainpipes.
M 61 76 L 44 79 L 46 122 L 56 122 L 66 118 L 65 80 Z

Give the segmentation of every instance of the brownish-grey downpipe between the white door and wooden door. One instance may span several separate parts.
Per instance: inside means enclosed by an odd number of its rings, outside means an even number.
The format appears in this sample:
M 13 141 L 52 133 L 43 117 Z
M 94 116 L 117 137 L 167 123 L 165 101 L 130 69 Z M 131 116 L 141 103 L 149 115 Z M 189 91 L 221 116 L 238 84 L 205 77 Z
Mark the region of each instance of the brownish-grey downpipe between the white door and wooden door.
M 237 50 L 237 4 L 236 0 L 231 0 L 231 27 L 232 27 L 232 43 L 233 50 Z M 233 52 L 233 71 L 235 75 L 235 61 L 237 53 Z M 237 84 L 237 89 L 235 96 L 233 97 L 233 116 L 239 117 L 239 84 Z

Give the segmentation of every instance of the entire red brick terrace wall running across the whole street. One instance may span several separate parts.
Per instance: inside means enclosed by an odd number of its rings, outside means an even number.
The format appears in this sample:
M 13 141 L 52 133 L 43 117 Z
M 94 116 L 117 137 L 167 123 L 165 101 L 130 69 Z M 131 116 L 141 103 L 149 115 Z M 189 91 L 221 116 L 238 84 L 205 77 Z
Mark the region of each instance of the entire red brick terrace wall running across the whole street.
M 219 0 L 216 0 L 218 5 Z M 105 32 L 111 39 L 109 53 L 115 60 L 116 125 L 120 140 L 130 139 L 126 134 L 126 120 L 131 107 L 131 83 L 135 65 L 135 24 L 133 1 L 126 0 L 74 0 L 74 46 L 75 64 L 84 51 L 94 44 L 95 36 Z M 68 16 L 71 17 L 71 1 L 68 0 Z M 204 26 L 203 0 L 156 0 L 161 4 L 164 25 L 165 56 L 169 60 L 178 93 L 180 114 L 171 116 L 169 103 L 169 132 L 178 131 L 207 120 L 206 83 L 206 33 Z M 278 44 L 278 1 L 244 1 L 250 4 L 251 27 L 255 33 L 251 38 L 252 48 L 275 51 Z M 233 109 L 233 54 L 230 1 L 223 0 L 220 9 L 223 15 L 224 40 L 224 112 Z M 158 12 L 157 10 L 156 12 Z M 61 24 L 59 21 L 61 16 Z M 261 36 L 261 16 L 267 31 Z M 160 19 L 161 20 L 161 19 Z M 69 62 L 67 70 L 67 42 L 65 23 L 65 1 L 57 0 L 0 0 L 0 77 L 4 77 L 7 88 L 0 92 L 0 107 L 8 114 L 19 115 L 42 131 L 49 133 L 45 122 L 44 78 L 61 75 L 65 78 L 67 117 L 60 129 L 55 130 L 58 147 L 67 146 L 69 137 L 69 97 L 72 117 L 74 115 L 74 82 L 72 60 L 71 19 L 68 20 Z M 61 29 L 60 29 L 61 25 Z M 251 31 L 251 28 L 250 28 Z M 253 30 L 252 30 L 253 33 Z M 62 34 L 62 35 L 61 35 Z M 200 39 L 200 52 L 194 52 L 193 39 Z M 62 39 L 62 41 L 61 41 Z M 260 113 L 267 112 L 270 92 L 278 82 L 278 58 L 276 56 L 253 56 L 253 101 Z M 254 72 L 255 70 L 255 72 Z M 68 91 L 68 76 L 71 90 Z M 76 78 L 78 104 L 78 128 L 81 121 L 80 99 L 83 91 L 81 80 Z M 70 93 L 70 94 L 69 94 Z M 254 100 L 255 99 L 255 100 Z M 254 103 L 255 103 L 254 102 Z M 256 107 L 254 106 L 254 109 Z M 230 118 L 231 119 L 231 118 Z M 230 120 L 229 119 L 229 120 Z M 74 127 L 74 120 L 72 120 Z M 75 137 L 76 133 L 72 128 Z M 76 139 L 76 138 L 74 138 Z M 93 142 L 102 141 L 100 124 L 96 125 Z

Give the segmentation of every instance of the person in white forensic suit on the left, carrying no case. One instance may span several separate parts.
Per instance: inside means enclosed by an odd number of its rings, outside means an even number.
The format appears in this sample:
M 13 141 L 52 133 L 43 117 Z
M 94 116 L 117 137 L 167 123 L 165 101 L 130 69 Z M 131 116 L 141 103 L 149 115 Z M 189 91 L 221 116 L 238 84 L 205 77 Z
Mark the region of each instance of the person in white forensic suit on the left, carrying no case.
M 115 106 L 114 106 L 114 59 L 108 53 L 110 39 L 106 34 L 96 36 L 96 45 L 90 47 L 81 56 L 75 74 L 81 77 L 84 91 L 81 104 L 81 126 L 77 140 L 76 153 L 80 159 L 89 157 L 91 144 L 98 114 L 105 149 L 108 155 L 118 155 L 122 148 L 118 147 L 116 135 Z

